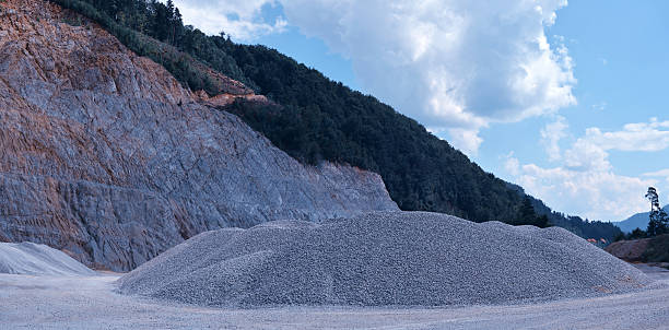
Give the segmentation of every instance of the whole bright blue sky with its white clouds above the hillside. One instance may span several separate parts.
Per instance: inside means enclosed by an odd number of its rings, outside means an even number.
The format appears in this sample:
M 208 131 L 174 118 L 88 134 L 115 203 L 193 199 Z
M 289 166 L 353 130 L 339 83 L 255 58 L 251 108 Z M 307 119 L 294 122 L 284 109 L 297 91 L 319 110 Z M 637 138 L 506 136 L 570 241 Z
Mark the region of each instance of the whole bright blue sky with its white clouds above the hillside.
M 621 220 L 648 185 L 669 202 L 667 1 L 175 2 L 377 96 L 556 211 Z

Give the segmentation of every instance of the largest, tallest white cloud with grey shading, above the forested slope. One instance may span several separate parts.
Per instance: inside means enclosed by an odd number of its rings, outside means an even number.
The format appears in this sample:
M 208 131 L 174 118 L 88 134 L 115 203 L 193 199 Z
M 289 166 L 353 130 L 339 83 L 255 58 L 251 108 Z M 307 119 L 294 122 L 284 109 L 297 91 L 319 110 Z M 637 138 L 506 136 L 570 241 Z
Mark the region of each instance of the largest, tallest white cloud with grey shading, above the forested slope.
M 466 152 L 490 122 L 575 104 L 544 27 L 564 0 L 285 0 L 289 22 L 350 58 L 364 89 Z

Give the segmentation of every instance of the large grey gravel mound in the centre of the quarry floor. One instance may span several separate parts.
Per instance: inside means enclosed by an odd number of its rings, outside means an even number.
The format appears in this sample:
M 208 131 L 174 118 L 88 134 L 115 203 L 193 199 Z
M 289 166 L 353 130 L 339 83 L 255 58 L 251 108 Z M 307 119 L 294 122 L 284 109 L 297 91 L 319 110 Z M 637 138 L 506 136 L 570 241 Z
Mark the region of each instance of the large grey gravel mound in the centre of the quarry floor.
M 439 306 L 638 290 L 641 271 L 562 228 L 424 212 L 200 234 L 122 276 L 119 291 L 208 306 Z

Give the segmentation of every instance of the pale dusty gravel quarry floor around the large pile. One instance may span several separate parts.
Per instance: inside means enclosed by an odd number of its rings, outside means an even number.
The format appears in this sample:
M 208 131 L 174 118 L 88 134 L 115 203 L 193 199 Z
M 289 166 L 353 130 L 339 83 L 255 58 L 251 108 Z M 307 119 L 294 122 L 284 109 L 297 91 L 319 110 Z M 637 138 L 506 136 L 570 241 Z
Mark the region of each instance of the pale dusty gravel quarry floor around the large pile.
M 658 287 L 533 305 L 403 309 L 201 308 L 118 295 L 114 274 L 0 274 L 0 329 L 669 329 L 669 271 L 639 268 Z

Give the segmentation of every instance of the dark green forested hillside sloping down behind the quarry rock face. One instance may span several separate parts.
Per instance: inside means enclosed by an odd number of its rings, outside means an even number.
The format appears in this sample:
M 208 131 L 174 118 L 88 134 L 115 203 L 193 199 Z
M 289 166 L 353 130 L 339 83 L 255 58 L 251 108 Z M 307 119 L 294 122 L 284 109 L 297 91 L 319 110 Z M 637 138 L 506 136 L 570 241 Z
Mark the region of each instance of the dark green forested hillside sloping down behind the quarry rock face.
M 238 80 L 273 103 L 237 101 L 222 108 L 305 163 L 321 160 L 377 172 L 402 210 L 445 212 L 482 222 L 570 223 L 587 235 L 591 224 L 533 209 L 521 190 L 482 170 L 448 142 L 376 98 L 333 82 L 263 46 L 233 43 L 184 26 L 172 1 L 51 0 L 94 20 L 130 49 L 151 57 L 193 91 L 221 90 L 208 70 Z M 533 199 L 531 199 L 533 200 Z M 527 202 L 525 204 L 528 204 Z M 540 205 L 543 205 L 541 203 Z M 545 208 L 545 205 L 543 205 Z M 597 225 L 597 227 L 601 227 Z M 612 237 L 617 227 L 596 234 Z

